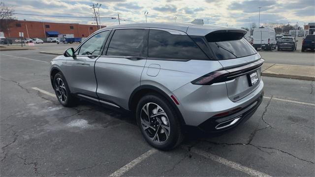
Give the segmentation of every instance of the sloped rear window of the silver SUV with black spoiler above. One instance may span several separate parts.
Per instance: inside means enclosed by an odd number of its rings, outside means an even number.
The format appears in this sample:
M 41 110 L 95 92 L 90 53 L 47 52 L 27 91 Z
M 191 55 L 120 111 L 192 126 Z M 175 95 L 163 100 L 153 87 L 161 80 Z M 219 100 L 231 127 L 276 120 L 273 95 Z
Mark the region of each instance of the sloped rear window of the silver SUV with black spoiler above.
M 206 39 L 217 59 L 235 59 L 257 53 L 243 36 L 243 32 L 216 32 L 207 34 Z

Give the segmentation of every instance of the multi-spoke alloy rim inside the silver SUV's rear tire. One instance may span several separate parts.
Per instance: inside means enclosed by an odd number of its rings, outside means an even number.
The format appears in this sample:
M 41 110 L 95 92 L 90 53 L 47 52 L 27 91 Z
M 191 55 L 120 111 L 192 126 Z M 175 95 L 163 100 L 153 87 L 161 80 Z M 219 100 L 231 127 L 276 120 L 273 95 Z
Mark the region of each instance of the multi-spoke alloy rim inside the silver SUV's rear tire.
M 164 143 L 171 131 L 165 111 L 156 103 L 145 104 L 140 113 L 143 130 L 155 143 Z

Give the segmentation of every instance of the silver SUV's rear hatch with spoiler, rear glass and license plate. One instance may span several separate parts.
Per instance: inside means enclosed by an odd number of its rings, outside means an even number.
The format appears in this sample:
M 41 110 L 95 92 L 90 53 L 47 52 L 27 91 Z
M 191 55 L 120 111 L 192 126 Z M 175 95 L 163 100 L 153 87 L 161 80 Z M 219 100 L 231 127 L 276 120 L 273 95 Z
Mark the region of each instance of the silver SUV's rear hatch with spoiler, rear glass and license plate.
M 216 58 L 227 71 L 225 81 L 230 100 L 238 101 L 254 91 L 260 83 L 263 59 L 243 38 L 243 30 L 219 30 L 205 37 Z

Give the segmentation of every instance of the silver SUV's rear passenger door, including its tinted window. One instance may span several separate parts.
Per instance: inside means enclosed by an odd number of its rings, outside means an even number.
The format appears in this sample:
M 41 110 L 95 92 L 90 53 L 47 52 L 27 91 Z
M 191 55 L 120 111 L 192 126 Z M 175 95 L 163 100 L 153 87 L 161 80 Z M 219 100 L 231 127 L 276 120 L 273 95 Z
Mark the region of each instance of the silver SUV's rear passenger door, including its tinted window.
M 96 60 L 95 76 L 100 102 L 128 109 L 131 92 L 140 86 L 148 53 L 149 29 L 116 29 Z

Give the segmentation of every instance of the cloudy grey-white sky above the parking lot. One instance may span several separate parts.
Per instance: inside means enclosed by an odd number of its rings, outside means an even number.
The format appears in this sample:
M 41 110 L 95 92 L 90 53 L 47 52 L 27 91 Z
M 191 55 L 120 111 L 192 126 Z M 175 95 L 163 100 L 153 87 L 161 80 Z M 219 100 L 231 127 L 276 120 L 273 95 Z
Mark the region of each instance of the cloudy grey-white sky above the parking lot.
M 249 22 L 258 25 L 258 7 L 261 7 L 260 23 L 304 23 L 315 22 L 315 0 L 2 0 L 15 9 L 18 20 L 69 22 L 91 24 L 93 3 L 101 3 L 99 9 L 101 25 L 118 25 L 145 22 L 144 12 L 148 11 L 148 22 L 191 22 L 204 19 L 205 24 L 249 27 Z M 47 17 L 22 14 L 41 14 Z M 77 16 L 80 18 L 66 18 Z M 88 18 L 81 18 L 88 17 Z

